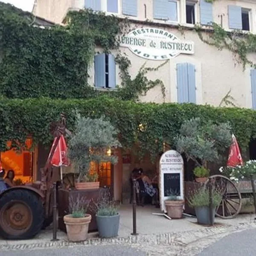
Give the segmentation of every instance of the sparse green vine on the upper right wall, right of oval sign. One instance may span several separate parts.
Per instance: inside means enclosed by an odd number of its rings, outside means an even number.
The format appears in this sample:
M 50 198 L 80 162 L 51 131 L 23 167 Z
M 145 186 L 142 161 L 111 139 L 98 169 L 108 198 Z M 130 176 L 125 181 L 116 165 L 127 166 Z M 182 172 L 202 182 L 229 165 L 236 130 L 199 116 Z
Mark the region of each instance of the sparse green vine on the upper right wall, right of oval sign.
M 208 0 L 208 2 L 212 1 Z M 217 23 L 211 24 L 211 29 L 208 30 L 207 37 L 203 36 L 201 26 L 196 25 L 195 30 L 204 43 L 215 46 L 219 50 L 230 50 L 236 61 L 242 64 L 244 69 L 247 64 L 256 68 L 256 64 L 247 57 L 250 53 L 256 53 L 256 35 L 243 33 L 240 30 L 227 32 Z

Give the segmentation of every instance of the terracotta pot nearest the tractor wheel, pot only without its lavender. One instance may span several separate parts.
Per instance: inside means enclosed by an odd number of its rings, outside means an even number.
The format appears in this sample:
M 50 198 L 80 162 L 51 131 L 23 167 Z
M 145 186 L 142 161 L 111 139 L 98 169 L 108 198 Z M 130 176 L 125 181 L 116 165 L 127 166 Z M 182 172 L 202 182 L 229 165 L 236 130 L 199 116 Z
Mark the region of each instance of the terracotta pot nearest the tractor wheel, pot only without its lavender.
M 88 227 L 92 216 L 87 214 L 84 218 L 73 218 L 71 214 L 64 216 L 67 229 L 67 238 L 71 242 L 84 241 L 88 237 Z

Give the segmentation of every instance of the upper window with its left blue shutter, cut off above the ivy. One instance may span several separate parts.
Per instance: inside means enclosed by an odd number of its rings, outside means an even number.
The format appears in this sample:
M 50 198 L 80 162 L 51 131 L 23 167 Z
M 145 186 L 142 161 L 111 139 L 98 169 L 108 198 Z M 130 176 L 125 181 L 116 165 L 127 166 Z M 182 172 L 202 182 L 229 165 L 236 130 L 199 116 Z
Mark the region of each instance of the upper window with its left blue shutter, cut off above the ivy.
M 118 13 L 119 0 L 85 0 L 84 7 L 93 11 Z

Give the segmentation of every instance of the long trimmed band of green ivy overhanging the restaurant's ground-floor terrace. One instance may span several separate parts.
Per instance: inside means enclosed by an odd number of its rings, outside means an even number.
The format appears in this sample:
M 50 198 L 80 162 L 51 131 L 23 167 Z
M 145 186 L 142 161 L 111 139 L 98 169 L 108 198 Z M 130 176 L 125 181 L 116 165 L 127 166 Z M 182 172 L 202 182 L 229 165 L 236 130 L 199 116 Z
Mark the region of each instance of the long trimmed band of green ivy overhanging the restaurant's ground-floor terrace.
M 213 108 L 194 104 L 134 103 L 102 96 L 96 99 L 0 99 L 0 150 L 6 142 L 22 147 L 28 136 L 34 143 L 52 144 L 49 124 L 58 120 L 61 112 L 67 116 L 67 128 L 74 132 L 76 112 L 92 119 L 105 115 L 119 131 L 119 142 L 124 148 L 139 145 L 141 154 L 156 156 L 163 151 L 163 142 L 174 145 L 185 120 L 199 117 L 203 124 L 228 122 L 239 145 L 247 148 L 256 136 L 256 111 L 243 108 Z M 144 129 L 139 129 L 143 124 Z M 231 138 L 231 137 L 230 137 Z M 19 142 L 19 143 L 18 143 Z

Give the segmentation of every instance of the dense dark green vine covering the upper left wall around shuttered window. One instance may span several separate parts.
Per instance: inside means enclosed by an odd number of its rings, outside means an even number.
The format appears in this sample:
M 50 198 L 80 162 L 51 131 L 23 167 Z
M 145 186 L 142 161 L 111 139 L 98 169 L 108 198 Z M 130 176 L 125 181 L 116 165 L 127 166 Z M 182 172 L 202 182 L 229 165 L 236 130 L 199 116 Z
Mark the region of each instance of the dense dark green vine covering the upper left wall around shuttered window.
M 69 12 L 66 26 L 35 27 L 35 17 L 9 4 L 0 3 L 0 95 L 8 98 L 83 98 L 102 94 L 137 100 L 141 93 L 163 83 L 150 81 L 142 67 L 135 79 L 128 73 L 127 60 L 117 57 L 123 79 L 117 92 L 95 90 L 88 84 L 88 67 L 95 47 L 105 53 L 119 48 L 118 35 L 130 29 L 127 19 L 104 12 Z M 126 61 L 126 64 L 125 64 Z M 123 88 L 123 89 L 122 89 Z

